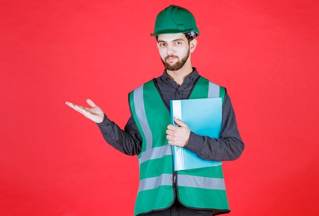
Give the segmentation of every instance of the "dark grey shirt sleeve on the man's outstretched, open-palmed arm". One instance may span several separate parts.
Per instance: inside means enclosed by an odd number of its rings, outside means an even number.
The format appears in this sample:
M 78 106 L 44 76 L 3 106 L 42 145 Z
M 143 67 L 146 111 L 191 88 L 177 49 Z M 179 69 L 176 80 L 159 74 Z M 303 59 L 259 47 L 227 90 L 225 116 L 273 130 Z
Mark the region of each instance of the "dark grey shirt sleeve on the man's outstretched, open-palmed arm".
M 115 149 L 127 155 L 136 155 L 141 152 L 142 139 L 132 118 L 128 120 L 124 130 L 108 119 L 106 115 L 97 125 L 104 140 Z

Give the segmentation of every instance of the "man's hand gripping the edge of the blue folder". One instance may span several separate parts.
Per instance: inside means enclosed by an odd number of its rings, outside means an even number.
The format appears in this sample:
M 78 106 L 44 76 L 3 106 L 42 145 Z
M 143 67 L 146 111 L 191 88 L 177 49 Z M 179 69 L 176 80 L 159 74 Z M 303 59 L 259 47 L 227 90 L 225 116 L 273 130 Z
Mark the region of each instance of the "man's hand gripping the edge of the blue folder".
M 189 142 L 191 130 L 187 124 L 183 123 L 179 119 L 176 119 L 175 117 L 174 122 L 178 124 L 179 127 L 172 124 L 167 126 L 166 138 L 168 139 L 168 144 L 172 146 L 185 147 Z

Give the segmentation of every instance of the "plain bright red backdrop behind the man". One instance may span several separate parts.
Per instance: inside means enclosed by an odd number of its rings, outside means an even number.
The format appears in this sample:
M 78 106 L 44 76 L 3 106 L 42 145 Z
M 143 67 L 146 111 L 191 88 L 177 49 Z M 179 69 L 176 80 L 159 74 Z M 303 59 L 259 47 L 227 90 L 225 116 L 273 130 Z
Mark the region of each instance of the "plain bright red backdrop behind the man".
M 193 66 L 246 144 L 224 163 L 229 215 L 318 215 L 319 4 L 302 0 L 2 1 L 0 215 L 132 215 L 137 158 L 65 101 L 124 127 L 128 92 L 163 72 L 149 34 L 170 4 L 195 15 Z

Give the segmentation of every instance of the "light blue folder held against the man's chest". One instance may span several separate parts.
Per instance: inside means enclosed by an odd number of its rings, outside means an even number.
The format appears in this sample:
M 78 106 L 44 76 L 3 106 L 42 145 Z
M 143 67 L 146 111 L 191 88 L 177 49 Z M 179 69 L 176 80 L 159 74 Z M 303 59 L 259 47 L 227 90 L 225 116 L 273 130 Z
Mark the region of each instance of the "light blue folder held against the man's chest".
M 222 98 L 171 100 L 171 122 L 180 119 L 200 136 L 220 138 L 222 127 Z M 219 166 L 221 161 L 205 160 L 184 147 L 172 146 L 174 170 L 189 170 Z

